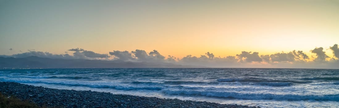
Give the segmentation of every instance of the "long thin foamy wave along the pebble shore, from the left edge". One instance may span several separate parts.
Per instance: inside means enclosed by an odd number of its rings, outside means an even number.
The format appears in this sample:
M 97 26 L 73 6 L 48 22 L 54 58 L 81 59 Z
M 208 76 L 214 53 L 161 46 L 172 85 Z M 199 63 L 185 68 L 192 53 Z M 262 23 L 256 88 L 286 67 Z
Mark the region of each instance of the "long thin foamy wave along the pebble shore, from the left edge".
M 80 82 L 47 82 L 47 81 L 32 81 L 32 80 L 9 80 L 9 79 L 0 79 L 3 82 L 16 82 L 16 83 L 43 83 L 43 84 L 56 84 L 56 85 L 66 85 L 66 86 L 83 86 L 90 88 L 111 88 L 117 90 L 161 90 L 161 87 L 133 87 L 133 86 L 118 86 L 118 85 L 105 85 L 105 84 L 86 84 Z

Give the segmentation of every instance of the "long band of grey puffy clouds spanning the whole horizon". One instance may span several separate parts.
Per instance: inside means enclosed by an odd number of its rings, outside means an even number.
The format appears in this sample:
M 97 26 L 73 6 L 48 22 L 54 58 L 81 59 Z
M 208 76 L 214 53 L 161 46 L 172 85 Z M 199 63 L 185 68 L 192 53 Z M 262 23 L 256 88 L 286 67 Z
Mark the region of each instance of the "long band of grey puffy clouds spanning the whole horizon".
M 113 50 L 109 54 L 100 54 L 82 48 L 72 48 L 67 51 L 74 51 L 73 55 L 60 54 L 54 55 L 49 52 L 28 50 L 29 52 L 18 53 L 1 57 L 23 58 L 37 56 L 53 59 L 100 59 L 100 60 L 121 60 L 131 62 L 165 62 L 180 65 L 195 65 L 207 67 L 248 67 L 248 68 L 339 68 L 339 48 L 335 44 L 330 46 L 333 52 L 333 58 L 326 55 L 323 47 L 316 47 L 310 50 L 314 56 L 308 56 L 300 50 L 290 52 L 277 52 L 271 55 L 260 55 L 259 52 L 241 51 L 236 56 L 215 57 L 211 52 L 204 55 L 192 56 L 187 55 L 183 58 L 177 58 L 171 55 L 163 56 L 157 50 L 146 52 L 145 50 L 136 49 L 134 51 Z

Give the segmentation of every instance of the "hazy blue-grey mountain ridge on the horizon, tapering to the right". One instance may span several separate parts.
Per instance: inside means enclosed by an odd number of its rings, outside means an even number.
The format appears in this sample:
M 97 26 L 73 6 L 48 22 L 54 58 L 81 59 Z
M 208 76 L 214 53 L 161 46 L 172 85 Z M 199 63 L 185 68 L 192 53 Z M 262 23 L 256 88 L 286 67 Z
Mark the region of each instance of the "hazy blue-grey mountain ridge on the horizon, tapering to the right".
M 0 57 L 0 68 L 190 68 L 163 62 L 124 62 L 120 60 L 50 59 L 36 56 L 25 58 Z

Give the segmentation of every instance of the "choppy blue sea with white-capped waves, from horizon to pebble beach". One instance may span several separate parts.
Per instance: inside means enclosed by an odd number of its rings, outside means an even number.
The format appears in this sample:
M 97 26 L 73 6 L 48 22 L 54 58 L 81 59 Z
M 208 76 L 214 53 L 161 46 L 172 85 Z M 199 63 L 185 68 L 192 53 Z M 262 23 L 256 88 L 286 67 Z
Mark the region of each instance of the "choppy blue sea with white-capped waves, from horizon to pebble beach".
M 4 69 L 0 81 L 260 107 L 339 107 L 339 69 Z

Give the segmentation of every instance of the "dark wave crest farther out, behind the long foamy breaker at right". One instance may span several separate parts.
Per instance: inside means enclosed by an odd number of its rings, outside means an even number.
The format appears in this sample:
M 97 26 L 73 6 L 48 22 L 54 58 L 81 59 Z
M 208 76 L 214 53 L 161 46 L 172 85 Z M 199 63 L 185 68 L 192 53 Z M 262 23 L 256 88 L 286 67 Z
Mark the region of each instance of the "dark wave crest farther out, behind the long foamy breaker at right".
M 261 78 L 245 78 L 245 79 L 218 79 L 218 82 L 268 82 L 268 83 L 296 83 L 296 84 L 307 84 L 312 83 L 312 81 L 292 81 L 292 80 L 270 80 L 270 79 L 261 79 Z

